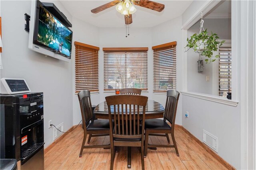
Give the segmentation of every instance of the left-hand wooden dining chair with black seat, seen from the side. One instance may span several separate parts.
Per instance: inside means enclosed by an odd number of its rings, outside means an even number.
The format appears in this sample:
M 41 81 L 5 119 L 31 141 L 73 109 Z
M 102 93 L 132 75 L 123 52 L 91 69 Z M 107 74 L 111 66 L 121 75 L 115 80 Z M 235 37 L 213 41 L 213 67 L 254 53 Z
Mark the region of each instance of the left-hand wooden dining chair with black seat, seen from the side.
M 87 145 L 85 146 L 87 134 L 88 143 L 90 142 L 91 137 L 96 136 L 107 136 L 109 135 L 110 126 L 109 121 L 106 119 L 94 119 L 92 104 L 90 99 L 90 91 L 83 90 L 78 93 L 78 99 L 80 103 L 80 109 L 82 114 L 82 123 L 84 127 L 84 140 L 82 142 L 82 147 L 80 150 L 79 157 L 82 157 L 82 152 L 84 148 L 110 148 L 108 145 Z

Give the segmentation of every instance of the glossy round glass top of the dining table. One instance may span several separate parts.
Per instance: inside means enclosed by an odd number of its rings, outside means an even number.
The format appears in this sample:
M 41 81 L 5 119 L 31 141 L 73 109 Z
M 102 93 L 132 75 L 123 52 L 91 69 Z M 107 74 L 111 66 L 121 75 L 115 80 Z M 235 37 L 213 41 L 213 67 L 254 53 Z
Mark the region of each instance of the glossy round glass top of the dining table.
M 111 108 L 111 111 L 114 112 L 114 106 L 111 106 L 110 108 Z M 122 107 L 120 106 L 119 108 L 121 109 Z M 125 109 L 125 106 L 123 108 Z M 140 109 L 140 112 L 142 112 L 142 107 L 140 107 L 139 109 Z M 137 110 L 137 108 L 136 108 L 136 110 Z M 116 111 L 117 111 L 117 106 L 116 106 Z M 163 112 L 164 107 L 157 101 L 148 100 L 147 105 L 146 105 L 146 113 L 147 112 L 159 112 L 159 111 Z M 107 105 L 106 101 L 101 102 L 100 104 L 98 104 L 95 107 L 94 113 L 97 113 L 97 112 L 108 113 L 108 105 Z M 127 112 L 130 112 L 129 108 L 128 108 Z M 133 108 L 131 108 L 131 112 L 133 112 Z

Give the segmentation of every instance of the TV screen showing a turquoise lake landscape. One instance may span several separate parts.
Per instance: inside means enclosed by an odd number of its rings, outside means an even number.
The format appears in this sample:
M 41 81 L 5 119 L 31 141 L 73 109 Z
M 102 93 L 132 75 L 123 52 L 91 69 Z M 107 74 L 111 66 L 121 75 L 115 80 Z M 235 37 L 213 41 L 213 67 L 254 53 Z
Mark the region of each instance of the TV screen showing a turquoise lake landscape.
M 55 53 L 71 58 L 72 31 L 42 5 L 39 5 L 36 42 Z

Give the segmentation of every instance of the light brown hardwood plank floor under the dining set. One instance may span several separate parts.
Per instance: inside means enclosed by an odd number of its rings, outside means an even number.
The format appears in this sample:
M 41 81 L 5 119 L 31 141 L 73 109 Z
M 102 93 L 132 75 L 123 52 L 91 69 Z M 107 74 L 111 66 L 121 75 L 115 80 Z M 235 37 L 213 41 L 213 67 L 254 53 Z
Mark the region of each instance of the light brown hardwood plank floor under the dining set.
M 174 170 L 174 169 L 201 169 L 221 170 L 226 169 L 218 160 L 209 154 L 202 146 L 196 143 L 182 128 L 175 127 L 174 136 L 178 144 L 180 157 L 176 156 L 174 148 L 157 148 L 148 150 L 144 158 L 146 170 Z M 88 136 L 87 136 L 88 137 Z M 92 148 L 84 149 L 82 158 L 79 152 L 83 139 L 83 130 L 79 126 L 44 155 L 44 167 L 47 170 L 109 170 L 110 149 Z M 170 137 L 171 139 L 171 137 Z M 87 141 L 87 140 L 86 140 Z M 109 136 L 91 138 L 90 144 L 108 144 Z M 166 144 L 162 136 L 150 136 L 149 143 Z M 140 150 L 132 148 L 132 168 L 141 168 Z M 114 169 L 127 169 L 127 148 L 120 147 L 115 156 Z

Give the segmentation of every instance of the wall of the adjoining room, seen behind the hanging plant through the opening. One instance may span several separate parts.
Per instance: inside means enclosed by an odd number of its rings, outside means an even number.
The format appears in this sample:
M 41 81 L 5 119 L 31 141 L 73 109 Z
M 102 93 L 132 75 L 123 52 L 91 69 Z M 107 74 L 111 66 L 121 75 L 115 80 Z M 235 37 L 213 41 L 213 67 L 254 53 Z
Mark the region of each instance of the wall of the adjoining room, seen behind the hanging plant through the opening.
M 196 22 L 191 28 L 188 29 L 188 37 L 193 34 L 198 34 L 200 26 L 200 20 Z M 204 19 L 204 29 L 207 28 L 209 34 L 211 32 L 218 34 L 219 40 L 231 40 L 231 19 Z M 204 72 L 198 73 L 198 61 L 199 54 L 195 53 L 193 49 L 188 51 L 188 91 L 196 93 L 213 94 L 213 83 L 217 83 L 217 80 L 213 79 L 214 74 L 216 75 L 216 69 L 218 65 L 213 63 L 206 64 L 204 62 Z M 215 61 L 216 62 L 216 61 Z M 213 69 L 213 67 L 216 67 Z M 206 81 L 206 76 L 210 76 L 210 81 Z M 214 86 L 216 87 L 216 86 Z

